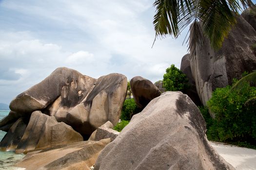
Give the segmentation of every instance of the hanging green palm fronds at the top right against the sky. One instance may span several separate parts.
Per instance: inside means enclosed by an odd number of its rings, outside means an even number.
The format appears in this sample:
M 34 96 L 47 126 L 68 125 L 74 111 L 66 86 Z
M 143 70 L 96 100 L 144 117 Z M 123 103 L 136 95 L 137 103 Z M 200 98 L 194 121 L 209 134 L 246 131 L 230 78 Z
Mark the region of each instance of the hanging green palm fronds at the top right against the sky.
M 203 35 L 210 39 L 213 49 L 220 49 L 236 23 L 238 12 L 247 7 L 256 11 L 251 0 L 156 0 L 154 6 L 157 8 L 153 21 L 156 37 L 170 34 L 177 38 L 191 25 L 188 39 L 192 55 L 195 55 L 196 46 L 204 43 Z

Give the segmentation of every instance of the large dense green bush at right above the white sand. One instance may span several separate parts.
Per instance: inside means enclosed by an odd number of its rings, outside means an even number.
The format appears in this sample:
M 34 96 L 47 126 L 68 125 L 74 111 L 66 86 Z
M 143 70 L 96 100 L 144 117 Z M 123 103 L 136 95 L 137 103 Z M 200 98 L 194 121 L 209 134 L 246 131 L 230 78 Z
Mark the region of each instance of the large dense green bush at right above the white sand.
M 255 104 L 245 105 L 248 99 L 256 96 L 256 87 L 247 83 L 236 91 L 231 91 L 230 88 L 229 85 L 217 88 L 207 102 L 211 112 L 215 113 L 215 119 L 210 122 L 205 118 L 210 124 L 207 137 L 209 140 L 256 147 Z

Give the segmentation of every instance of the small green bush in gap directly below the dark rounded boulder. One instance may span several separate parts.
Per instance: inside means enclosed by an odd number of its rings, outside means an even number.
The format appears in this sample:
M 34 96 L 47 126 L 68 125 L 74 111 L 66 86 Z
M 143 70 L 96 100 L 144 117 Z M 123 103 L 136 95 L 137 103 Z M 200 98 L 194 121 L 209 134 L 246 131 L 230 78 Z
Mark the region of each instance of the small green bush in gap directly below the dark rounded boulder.
M 130 120 L 133 115 L 139 112 L 134 99 L 126 99 L 121 110 L 121 120 Z

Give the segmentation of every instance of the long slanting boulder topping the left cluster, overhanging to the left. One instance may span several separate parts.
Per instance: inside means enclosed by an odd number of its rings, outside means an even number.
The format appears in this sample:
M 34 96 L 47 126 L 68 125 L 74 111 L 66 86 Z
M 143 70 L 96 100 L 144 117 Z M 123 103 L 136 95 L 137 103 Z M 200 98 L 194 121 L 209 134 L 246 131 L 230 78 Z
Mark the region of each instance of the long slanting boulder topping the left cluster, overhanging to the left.
M 58 100 L 62 107 L 73 107 L 81 102 L 96 79 L 70 68 L 57 68 L 39 84 L 18 95 L 10 109 L 18 113 L 32 113 Z

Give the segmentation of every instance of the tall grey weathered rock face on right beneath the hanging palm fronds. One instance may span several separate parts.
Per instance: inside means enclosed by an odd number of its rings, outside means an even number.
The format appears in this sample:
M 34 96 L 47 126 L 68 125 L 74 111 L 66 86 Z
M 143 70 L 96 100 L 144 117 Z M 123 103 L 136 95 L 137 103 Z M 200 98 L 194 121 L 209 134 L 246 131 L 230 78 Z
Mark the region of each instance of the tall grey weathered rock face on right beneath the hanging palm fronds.
M 208 39 L 202 48 L 197 47 L 190 66 L 204 105 L 217 87 L 231 85 L 233 78 L 241 78 L 244 71 L 256 68 L 256 55 L 251 48 L 255 43 L 256 31 L 243 17 L 237 16 L 237 24 L 219 51 L 211 49 Z

